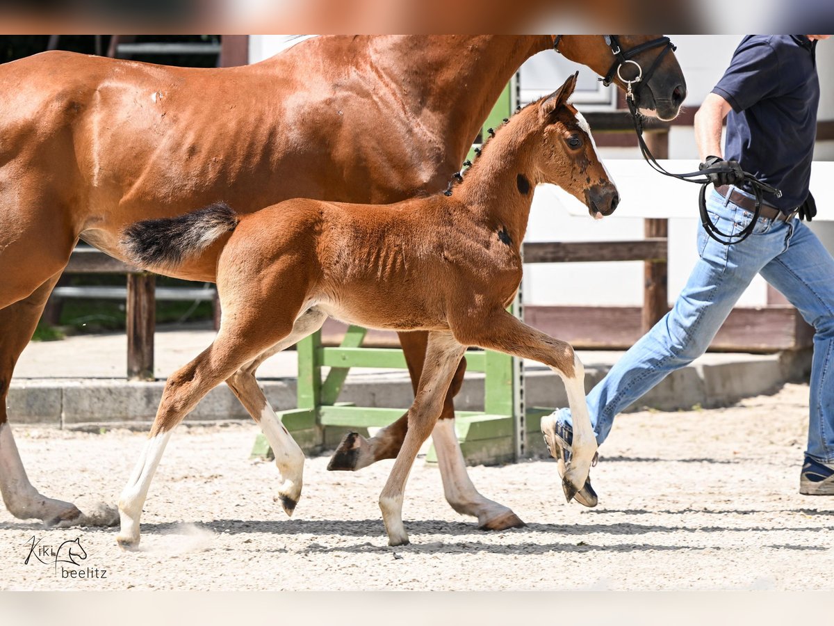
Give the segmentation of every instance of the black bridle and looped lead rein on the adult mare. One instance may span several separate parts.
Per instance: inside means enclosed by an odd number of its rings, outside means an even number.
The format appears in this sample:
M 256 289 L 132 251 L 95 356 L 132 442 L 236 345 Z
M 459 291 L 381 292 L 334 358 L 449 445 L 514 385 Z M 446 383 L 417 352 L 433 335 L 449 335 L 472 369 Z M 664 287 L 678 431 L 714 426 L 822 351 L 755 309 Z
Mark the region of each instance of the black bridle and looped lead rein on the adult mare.
M 655 156 L 651 154 L 651 150 L 646 145 L 646 141 L 643 140 L 643 121 L 640 110 L 637 108 L 636 95 L 638 94 L 638 90 L 649 81 L 649 78 L 651 78 L 651 75 L 661 63 L 662 58 L 666 56 L 666 53 L 670 50 L 674 51 L 677 48 L 673 43 L 671 43 L 670 38 L 661 37 L 652 39 L 646 43 L 641 43 L 630 50 L 624 51 L 620 45 L 620 39 L 617 35 L 603 35 L 603 37 L 605 38 L 605 43 L 609 48 L 611 48 L 611 53 L 614 54 L 615 60 L 608 70 L 608 73 L 605 74 L 605 77 L 600 78 L 599 80 L 602 81 L 602 84 L 604 84 L 605 87 L 608 87 L 610 83 L 614 81 L 615 76 L 620 78 L 620 81 L 625 83 L 625 103 L 628 104 L 628 109 L 631 113 L 631 120 L 634 123 L 634 129 L 637 134 L 637 144 L 640 146 L 640 152 L 643 159 L 646 159 L 646 163 L 651 165 L 651 168 L 660 174 L 671 176 L 672 178 L 679 180 L 685 180 L 687 183 L 696 183 L 701 185 L 701 193 L 698 196 L 698 208 L 701 213 L 701 224 L 704 226 L 706 234 L 710 235 L 712 239 L 724 245 L 731 245 L 733 243 L 739 243 L 746 240 L 756 227 L 756 221 L 758 221 L 759 215 L 761 214 L 763 194 L 774 194 L 776 195 L 776 198 L 781 198 L 781 191 L 775 187 L 771 187 L 769 184 L 761 182 L 759 179 L 756 179 L 753 174 L 745 172 L 744 182 L 751 187 L 753 194 L 756 196 L 756 208 L 753 211 L 753 217 L 750 220 L 750 224 L 747 225 L 744 230 L 741 230 L 741 232 L 735 235 L 718 230 L 706 212 L 706 188 L 709 184 L 711 184 L 710 179 L 707 178 L 707 174 L 728 173 L 730 169 L 712 167 L 701 169 L 697 172 L 688 172 L 686 174 L 672 174 L 657 162 L 657 159 L 655 159 Z M 559 52 L 558 48 L 561 38 L 561 35 L 556 35 L 553 41 L 553 49 L 556 52 Z M 646 50 L 661 47 L 661 53 L 657 55 L 654 63 L 651 63 L 651 66 L 649 66 L 649 69 L 644 72 L 641 64 L 637 63 L 634 60 L 634 57 L 640 53 L 646 52 Z M 634 65 L 637 69 L 636 76 L 631 78 L 631 80 L 626 80 L 622 73 L 620 73 L 620 70 L 626 64 Z M 632 85 L 636 85 L 636 87 L 632 88 Z

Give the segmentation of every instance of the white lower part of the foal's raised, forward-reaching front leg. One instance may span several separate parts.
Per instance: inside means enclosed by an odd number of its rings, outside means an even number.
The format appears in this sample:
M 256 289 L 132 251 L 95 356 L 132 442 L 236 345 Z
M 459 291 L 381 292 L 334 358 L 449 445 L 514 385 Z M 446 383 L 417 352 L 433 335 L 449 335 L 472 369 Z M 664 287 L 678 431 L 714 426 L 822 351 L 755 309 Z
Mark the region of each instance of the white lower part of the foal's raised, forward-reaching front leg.
M 554 371 L 565 382 L 570 415 L 573 416 L 573 442 L 570 446 L 572 455 L 562 479 L 565 496 L 570 501 L 585 485 L 596 452 L 596 437 L 594 428 L 590 425 L 588 405 L 585 402 L 585 367 L 579 356 L 574 352 L 573 376 L 565 376 L 556 369 Z

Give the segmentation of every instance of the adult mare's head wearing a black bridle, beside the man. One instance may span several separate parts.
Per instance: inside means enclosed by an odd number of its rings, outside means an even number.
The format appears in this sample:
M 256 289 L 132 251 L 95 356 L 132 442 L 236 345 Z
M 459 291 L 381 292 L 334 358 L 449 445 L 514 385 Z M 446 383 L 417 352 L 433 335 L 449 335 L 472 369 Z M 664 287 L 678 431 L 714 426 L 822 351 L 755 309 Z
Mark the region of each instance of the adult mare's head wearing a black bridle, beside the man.
M 661 35 L 556 37 L 557 49 L 565 58 L 587 65 L 620 88 L 625 89 L 625 81 L 633 81 L 640 76 L 638 82 L 632 83 L 632 89 L 642 114 L 663 120 L 677 117 L 686 98 L 686 79 L 671 42 L 666 43 Z M 618 49 L 620 54 L 615 55 Z M 622 63 L 624 59 L 625 63 Z

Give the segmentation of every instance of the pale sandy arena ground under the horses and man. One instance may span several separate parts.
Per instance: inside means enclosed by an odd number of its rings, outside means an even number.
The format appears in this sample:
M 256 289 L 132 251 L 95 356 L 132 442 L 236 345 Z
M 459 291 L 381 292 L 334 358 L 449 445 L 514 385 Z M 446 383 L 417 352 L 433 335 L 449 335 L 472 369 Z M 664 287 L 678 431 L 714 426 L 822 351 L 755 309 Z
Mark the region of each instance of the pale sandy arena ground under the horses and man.
M 278 474 L 249 460 L 256 427 L 180 427 L 143 515 L 142 546 L 115 528 L 45 529 L 0 511 L 8 589 L 831 589 L 834 497 L 797 492 L 807 387 L 739 406 L 621 416 L 592 471 L 600 506 L 566 504 L 555 462 L 472 467 L 528 524 L 475 528 L 420 458 L 406 492 L 411 545 L 389 548 L 377 497 L 391 461 L 353 474 L 308 461 L 292 519 Z M 18 427 L 33 482 L 84 508 L 115 502 L 144 435 Z M 80 538 L 89 578 L 24 561 L 33 542 Z M 96 571 L 98 570 L 98 571 Z M 106 573 L 102 573 L 106 570 Z

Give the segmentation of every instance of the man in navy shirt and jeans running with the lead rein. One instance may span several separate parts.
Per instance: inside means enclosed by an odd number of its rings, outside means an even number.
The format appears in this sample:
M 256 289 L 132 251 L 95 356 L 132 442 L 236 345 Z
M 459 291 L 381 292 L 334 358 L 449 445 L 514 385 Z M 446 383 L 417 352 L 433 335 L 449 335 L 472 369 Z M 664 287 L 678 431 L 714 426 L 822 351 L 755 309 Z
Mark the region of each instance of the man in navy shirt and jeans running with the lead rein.
M 709 174 L 711 220 L 725 233 L 750 224 L 755 196 L 741 170 L 780 189 L 765 194 L 761 217 L 740 243 L 722 245 L 698 232 L 700 259 L 672 310 L 611 368 L 587 397 L 598 443 L 614 416 L 671 371 L 701 356 L 756 273 L 780 290 L 815 328 L 811 364 L 808 447 L 800 492 L 834 495 L 834 260 L 801 220 L 816 215 L 808 191 L 820 98 L 816 42 L 830 35 L 756 35 L 744 38 L 721 81 L 695 116 L 701 169 Z M 721 126 L 727 118 L 721 156 Z M 739 167 L 740 166 L 740 167 Z M 738 186 L 737 186 L 738 185 Z M 570 460 L 570 410 L 542 419 L 541 430 L 564 475 Z M 596 504 L 590 479 L 576 495 Z

